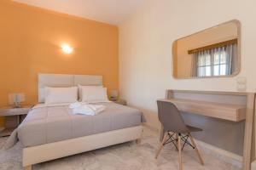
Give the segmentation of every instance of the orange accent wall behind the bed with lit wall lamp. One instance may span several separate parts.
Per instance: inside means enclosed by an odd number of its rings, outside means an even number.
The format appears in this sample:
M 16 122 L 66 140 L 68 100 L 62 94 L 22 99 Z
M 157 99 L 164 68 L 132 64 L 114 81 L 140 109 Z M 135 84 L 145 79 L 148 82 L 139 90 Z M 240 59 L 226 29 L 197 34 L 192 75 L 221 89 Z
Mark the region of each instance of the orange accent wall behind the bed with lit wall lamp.
M 14 92 L 37 103 L 38 73 L 102 75 L 108 91 L 119 88 L 117 26 L 6 0 L 0 16 L 0 106 Z M 73 54 L 63 54 L 62 43 Z

